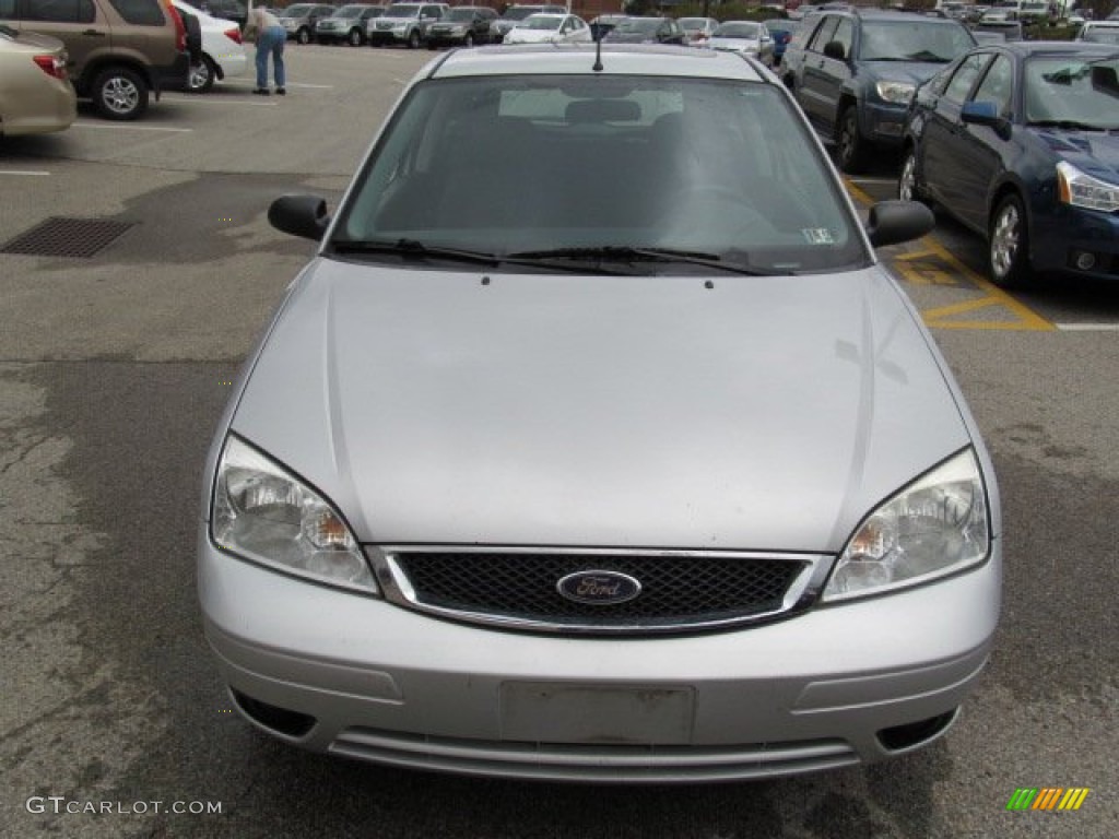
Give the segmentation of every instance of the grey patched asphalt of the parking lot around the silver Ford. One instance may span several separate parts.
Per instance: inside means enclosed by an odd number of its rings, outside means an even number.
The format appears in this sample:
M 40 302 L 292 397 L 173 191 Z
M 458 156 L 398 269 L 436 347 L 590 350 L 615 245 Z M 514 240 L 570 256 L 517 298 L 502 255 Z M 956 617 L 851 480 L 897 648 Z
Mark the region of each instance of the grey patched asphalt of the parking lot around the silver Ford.
M 0 253 L 0 836 L 1119 833 L 1119 284 L 1006 294 L 943 218 L 883 255 L 991 449 L 1006 581 L 989 668 L 937 745 L 781 781 L 603 789 L 308 755 L 232 713 L 195 522 L 229 383 L 312 249 L 266 208 L 289 191 L 335 206 L 430 57 L 290 45 L 283 101 L 245 78 L 164 94 L 137 124 L 83 110 L 64 134 L 0 141 L 0 248 L 51 217 L 122 230 L 91 257 Z M 865 206 L 892 173 L 849 187 Z M 1021 788 L 1090 792 L 1076 811 L 1008 811 Z

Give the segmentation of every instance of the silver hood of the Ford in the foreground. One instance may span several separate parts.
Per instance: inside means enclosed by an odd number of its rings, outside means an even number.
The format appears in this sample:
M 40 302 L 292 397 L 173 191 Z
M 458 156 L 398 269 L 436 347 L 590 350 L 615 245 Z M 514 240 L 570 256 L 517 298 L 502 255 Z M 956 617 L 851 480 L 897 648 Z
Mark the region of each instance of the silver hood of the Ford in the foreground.
M 380 544 L 836 552 L 970 442 L 883 271 L 713 283 L 316 260 L 231 427 Z

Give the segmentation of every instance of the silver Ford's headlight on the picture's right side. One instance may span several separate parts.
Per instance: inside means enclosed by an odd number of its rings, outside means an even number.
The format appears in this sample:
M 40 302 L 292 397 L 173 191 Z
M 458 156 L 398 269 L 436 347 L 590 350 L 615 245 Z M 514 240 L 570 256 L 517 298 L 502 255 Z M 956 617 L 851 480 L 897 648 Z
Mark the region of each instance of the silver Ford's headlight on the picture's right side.
M 989 550 L 987 492 L 969 449 L 863 520 L 839 555 L 824 600 L 924 583 L 978 565 Z

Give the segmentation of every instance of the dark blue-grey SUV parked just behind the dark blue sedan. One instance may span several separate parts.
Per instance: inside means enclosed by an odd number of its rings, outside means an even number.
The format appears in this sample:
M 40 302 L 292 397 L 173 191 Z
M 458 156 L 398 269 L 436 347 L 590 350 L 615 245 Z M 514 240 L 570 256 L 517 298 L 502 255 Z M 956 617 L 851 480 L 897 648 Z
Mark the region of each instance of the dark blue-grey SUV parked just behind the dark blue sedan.
M 803 34 L 803 38 L 801 38 Z M 781 77 L 846 172 L 897 151 L 918 85 L 976 46 L 963 23 L 901 11 L 814 12 L 786 49 Z

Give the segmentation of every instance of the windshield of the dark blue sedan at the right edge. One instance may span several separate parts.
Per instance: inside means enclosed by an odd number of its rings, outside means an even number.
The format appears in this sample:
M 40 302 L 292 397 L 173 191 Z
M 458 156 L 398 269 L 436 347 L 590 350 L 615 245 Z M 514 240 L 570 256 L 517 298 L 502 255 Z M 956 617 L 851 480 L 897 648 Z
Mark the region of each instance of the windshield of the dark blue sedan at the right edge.
M 1034 58 L 1025 70 L 1026 122 L 1119 129 L 1119 57 Z

